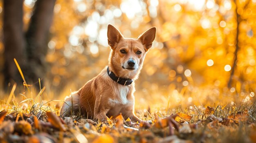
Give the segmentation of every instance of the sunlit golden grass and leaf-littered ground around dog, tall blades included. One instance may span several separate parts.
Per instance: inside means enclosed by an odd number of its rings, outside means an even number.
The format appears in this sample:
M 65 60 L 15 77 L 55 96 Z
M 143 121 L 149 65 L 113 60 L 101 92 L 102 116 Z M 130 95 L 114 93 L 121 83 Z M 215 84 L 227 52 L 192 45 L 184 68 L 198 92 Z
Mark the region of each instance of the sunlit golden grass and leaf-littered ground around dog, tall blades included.
M 166 98 L 154 92 L 154 97 L 135 97 L 136 103 L 142 101 L 135 106 L 136 114 L 143 120 L 151 120 L 153 124 L 150 128 L 132 123 L 129 119 L 125 121 L 121 115 L 107 123 L 83 119 L 81 114 L 74 113 L 62 119 L 59 117 L 59 109 L 63 101 L 45 101 L 42 97 L 45 87 L 41 88 L 40 84 L 40 91 L 35 94 L 35 90 L 26 83 L 17 61 L 16 65 L 26 90 L 17 98 L 15 90 L 19 85 L 14 84 L 8 98 L 0 101 L 1 142 L 256 142 L 255 100 L 248 100 L 247 96 L 239 96 L 238 99 L 237 95 L 242 92 L 218 92 L 220 90 L 216 88 L 189 91 L 182 88 L 180 92 L 173 90 Z M 38 81 L 40 83 L 40 79 Z M 249 95 L 254 97 L 251 91 Z M 201 96 L 215 95 L 216 92 L 219 93 L 218 96 L 204 99 Z M 187 102 L 189 98 L 191 99 Z M 141 99 L 146 99 L 150 106 L 144 105 Z M 169 122 L 168 117 L 173 114 L 179 130 L 174 129 L 174 125 Z

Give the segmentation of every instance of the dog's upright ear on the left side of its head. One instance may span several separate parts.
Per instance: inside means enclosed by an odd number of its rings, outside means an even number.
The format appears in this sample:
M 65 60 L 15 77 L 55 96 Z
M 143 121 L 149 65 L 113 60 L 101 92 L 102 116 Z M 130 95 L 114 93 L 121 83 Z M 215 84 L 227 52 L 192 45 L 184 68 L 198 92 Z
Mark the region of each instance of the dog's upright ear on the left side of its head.
M 108 45 L 113 49 L 116 44 L 123 38 L 121 33 L 111 24 L 108 24 Z

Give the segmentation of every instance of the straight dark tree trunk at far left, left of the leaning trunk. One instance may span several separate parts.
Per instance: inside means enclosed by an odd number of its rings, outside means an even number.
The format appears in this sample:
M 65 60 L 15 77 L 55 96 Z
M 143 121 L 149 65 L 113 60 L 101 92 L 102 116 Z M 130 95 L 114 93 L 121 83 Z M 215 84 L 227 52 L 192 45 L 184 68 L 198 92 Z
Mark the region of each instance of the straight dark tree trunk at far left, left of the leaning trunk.
M 23 0 L 4 0 L 4 85 L 22 81 L 13 58 L 17 59 L 21 68 L 26 64 L 22 6 Z

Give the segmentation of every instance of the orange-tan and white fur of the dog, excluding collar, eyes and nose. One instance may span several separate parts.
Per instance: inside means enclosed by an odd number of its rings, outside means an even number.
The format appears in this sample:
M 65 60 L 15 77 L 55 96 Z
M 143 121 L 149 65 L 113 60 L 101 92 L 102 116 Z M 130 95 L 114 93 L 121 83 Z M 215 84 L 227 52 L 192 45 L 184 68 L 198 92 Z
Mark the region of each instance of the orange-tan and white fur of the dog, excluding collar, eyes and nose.
M 117 77 L 137 79 L 155 35 L 156 27 L 152 27 L 138 39 L 124 38 L 114 26 L 108 25 L 108 44 L 111 47 L 109 70 Z M 125 53 L 122 50 L 125 50 Z M 135 65 L 130 67 L 128 60 L 133 60 Z M 65 116 L 71 114 L 71 110 L 77 112 L 81 109 L 85 117 L 100 121 L 106 121 L 107 117 L 115 118 L 121 113 L 125 119 L 129 117 L 134 122 L 141 122 L 142 120 L 134 114 L 134 92 L 134 82 L 128 86 L 118 84 L 109 77 L 106 67 L 82 88 L 73 92 L 72 96 L 65 98 L 61 115 Z

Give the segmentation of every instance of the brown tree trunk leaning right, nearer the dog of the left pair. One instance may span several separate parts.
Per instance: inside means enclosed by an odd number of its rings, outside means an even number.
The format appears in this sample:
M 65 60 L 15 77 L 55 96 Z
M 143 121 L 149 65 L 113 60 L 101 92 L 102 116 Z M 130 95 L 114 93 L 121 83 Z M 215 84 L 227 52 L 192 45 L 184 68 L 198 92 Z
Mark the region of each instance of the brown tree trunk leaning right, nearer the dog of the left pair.
M 49 40 L 49 28 L 52 24 L 53 9 L 56 0 L 37 0 L 34 14 L 31 17 L 26 33 L 27 55 L 29 61 L 29 79 L 38 81 L 45 77 L 47 64 L 47 42 Z

